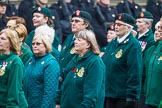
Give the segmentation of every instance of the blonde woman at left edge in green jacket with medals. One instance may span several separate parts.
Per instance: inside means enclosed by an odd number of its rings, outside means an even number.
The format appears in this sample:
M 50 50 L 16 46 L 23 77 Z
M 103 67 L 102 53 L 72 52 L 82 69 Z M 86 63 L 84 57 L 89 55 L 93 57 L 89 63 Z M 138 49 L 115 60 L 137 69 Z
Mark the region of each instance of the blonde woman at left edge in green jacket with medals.
M 22 90 L 24 65 L 20 54 L 16 31 L 4 29 L 0 32 L 0 108 L 26 108 L 28 106 Z

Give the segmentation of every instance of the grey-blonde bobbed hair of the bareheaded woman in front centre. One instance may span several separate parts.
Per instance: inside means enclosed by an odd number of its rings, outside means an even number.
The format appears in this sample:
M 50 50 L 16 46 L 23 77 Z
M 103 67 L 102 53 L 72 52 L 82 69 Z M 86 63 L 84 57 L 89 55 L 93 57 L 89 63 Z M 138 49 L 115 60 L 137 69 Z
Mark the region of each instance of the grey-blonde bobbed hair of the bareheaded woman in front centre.
M 90 44 L 90 49 L 94 54 L 100 53 L 95 34 L 91 30 L 84 29 L 79 31 L 76 35 L 76 38 L 82 38 L 86 40 Z

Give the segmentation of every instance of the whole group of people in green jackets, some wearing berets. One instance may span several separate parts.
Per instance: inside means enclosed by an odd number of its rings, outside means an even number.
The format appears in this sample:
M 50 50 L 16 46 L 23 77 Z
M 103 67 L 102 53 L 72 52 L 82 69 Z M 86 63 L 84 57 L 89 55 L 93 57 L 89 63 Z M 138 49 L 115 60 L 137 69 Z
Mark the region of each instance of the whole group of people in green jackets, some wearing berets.
M 151 13 L 120 13 L 101 49 L 77 10 L 60 50 L 50 11 L 32 15 L 29 35 L 19 17 L 0 31 L 0 108 L 162 108 L 162 19 L 153 33 Z

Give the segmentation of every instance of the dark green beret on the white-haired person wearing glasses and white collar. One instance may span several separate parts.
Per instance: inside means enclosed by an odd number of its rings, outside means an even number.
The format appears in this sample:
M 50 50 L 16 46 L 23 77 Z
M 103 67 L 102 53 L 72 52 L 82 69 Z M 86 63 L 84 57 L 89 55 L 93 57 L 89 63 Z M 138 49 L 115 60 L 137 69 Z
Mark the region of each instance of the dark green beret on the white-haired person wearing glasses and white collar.
M 121 13 L 121 14 L 118 14 L 115 18 L 115 20 L 119 20 L 119 21 L 122 21 L 126 24 L 129 24 L 131 26 L 134 26 L 135 24 L 135 19 L 134 17 L 132 17 L 131 15 L 127 14 L 127 13 Z

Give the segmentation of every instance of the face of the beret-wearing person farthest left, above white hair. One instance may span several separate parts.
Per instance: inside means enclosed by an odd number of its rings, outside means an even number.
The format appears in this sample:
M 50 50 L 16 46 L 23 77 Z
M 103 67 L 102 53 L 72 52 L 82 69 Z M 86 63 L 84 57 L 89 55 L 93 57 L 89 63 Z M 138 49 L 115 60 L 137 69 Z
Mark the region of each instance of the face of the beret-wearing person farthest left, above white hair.
M 47 17 L 44 17 L 41 13 L 34 13 L 33 14 L 33 25 L 34 27 L 41 26 L 43 24 L 46 24 L 48 21 Z

